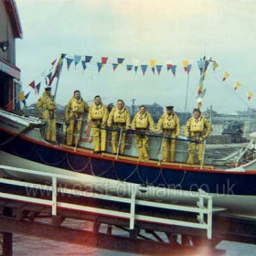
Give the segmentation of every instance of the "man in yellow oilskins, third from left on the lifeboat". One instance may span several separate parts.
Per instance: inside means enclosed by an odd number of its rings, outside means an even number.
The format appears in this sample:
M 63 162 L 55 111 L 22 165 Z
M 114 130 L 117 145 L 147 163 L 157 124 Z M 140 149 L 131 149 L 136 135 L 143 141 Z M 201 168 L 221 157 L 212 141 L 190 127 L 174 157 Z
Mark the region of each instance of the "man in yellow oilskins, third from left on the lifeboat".
M 106 150 L 108 116 L 108 108 L 102 104 L 100 95 L 95 96 L 88 115 L 88 123 L 91 123 L 92 128 L 94 153 Z

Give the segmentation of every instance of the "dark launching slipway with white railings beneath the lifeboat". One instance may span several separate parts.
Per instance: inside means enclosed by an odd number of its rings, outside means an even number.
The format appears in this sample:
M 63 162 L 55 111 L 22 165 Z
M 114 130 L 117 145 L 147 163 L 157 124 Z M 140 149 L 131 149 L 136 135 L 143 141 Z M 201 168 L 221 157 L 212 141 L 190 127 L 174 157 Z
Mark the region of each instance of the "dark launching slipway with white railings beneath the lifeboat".
M 75 177 L 5 165 L 0 169 L 51 180 L 42 184 L 1 173 L 4 256 L 13 255 L 13 233 L 143 255 L 218 256 L 226 255 L 216 249 L 221 240 L 256 243 L 254 219 L 225 215 L 212 207 L 212 197 L 202 190 L 196 205 L 180 205 L 137 198 L 135 193 L 121 197 L 59 186 L 60 179 Z M 146 187 L 140 189 L 146 193 Z

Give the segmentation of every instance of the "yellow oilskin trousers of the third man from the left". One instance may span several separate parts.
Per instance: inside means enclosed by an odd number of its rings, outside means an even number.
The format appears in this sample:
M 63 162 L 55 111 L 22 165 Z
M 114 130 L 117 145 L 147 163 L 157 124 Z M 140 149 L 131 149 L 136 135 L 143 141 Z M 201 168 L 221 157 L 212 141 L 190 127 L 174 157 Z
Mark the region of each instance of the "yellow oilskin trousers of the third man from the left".
M 91 122 L 94 152 L 106 151 L 107 130 L 100 129 L 101 122 L 101 119 Z

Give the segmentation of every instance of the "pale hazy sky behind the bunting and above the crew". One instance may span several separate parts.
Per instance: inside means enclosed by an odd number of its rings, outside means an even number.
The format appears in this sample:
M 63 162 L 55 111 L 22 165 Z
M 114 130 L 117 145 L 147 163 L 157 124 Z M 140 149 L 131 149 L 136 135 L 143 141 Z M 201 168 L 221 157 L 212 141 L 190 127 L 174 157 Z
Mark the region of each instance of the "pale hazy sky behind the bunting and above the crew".
M 131 105 L 135 99 L 136 105 L 172 104 L 178 112 L 191 112 L 197 107 L 197 60 L 206 56 L 219 67 L 208 67 L 202 110 L 212 106 L 228 113 L 255 107 L 256 1 L 16 0 L 16 5 L 24 35 L 16 39 L 16 66 L 23 90 L 32 91 L 27 104 L 37 101 L 51 62 L 65 53 L 92 59 L 85 70 L 81 63 L 68 70 L 64 61 L 56 98 L 62 105 L 80 90 L 90 103 L 100 94 L 106 104 L 123 99 Z M 98 72 L 101 57 L 109 59 Z M 117 58 L 124 58 L 123 65 L 113 71 Z M 127 71 L 133 59 L 148 65 L 144 76 L 140 67 L 137 73 Z M 152 72 L 149 59 L 163 65 L 160 75 Z M 189 76 L 184 59 L 192 64 Z M 176 77 L 166 70 L 166 61 L 177 66 Z M 223 82 L 225 71 L 229 78 Z M 28 86 L 33 80 L 41 81 L 39 95 Z M 241 86 L 234 91 L 236 81 Z

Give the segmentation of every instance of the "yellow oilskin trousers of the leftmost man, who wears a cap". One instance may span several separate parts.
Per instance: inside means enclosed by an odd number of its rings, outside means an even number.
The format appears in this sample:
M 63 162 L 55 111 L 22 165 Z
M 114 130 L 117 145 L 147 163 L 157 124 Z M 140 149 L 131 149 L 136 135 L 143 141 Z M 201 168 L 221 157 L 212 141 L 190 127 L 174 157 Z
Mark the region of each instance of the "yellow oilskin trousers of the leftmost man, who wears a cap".
M 45 139 L 56 142 L 56 114 L 53 111 L 45 110 L 42 112 L 42 119 L 47 122 Z

